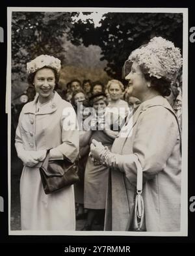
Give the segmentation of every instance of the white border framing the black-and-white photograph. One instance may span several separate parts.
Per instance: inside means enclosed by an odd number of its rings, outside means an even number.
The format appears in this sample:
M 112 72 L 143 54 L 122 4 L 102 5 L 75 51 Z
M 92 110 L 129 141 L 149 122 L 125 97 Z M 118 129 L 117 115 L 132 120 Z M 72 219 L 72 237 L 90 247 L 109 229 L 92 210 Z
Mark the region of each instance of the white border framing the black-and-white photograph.
M 12 231 L 11 203 L 11 24 L 12 12 L 155 12 L 183 14 L 183 101 L 182 101 L 182 166 L 181 166 L 181 230 L 179 232 L 131 231 Z M 187 236 L 188 235 L 188 8 L 91 8 L 91 7 L 7 7 L 6 113 L 8 114 L 8 235 L 68 236 Z

